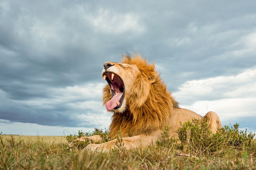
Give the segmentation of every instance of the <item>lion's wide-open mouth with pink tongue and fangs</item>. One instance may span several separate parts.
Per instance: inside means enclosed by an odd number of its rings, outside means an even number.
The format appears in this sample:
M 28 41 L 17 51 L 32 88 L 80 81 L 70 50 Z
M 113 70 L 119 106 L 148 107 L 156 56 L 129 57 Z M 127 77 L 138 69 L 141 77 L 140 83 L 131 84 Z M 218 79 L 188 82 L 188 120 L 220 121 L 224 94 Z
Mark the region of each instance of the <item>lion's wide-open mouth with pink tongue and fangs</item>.
M 107 80 L 112 92 L 112 99 L 106 103 L 106 108 L 110 111 L 121 107 L 124 99 L 124 83 L 122 79 L 114 73 L 105 73 L 103 79 Z

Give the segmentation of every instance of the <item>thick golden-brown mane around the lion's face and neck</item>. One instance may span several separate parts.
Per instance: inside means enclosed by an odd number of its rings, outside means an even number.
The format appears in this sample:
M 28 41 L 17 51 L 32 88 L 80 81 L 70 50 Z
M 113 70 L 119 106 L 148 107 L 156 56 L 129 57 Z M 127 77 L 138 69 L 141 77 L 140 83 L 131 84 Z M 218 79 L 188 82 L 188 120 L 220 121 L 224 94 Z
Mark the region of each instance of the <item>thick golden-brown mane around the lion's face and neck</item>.
M 114 113 L 109 128 L 109 134 L 115 137 L 119 128 L 123 136 L 138 134 L 150 134 L 152 131 L 162 128 L 170 117 L 172 107 L 179 107 L 171 92 L 155 70 L 155 64 L 148 64 L 146 58 L 139 54 L 123 55 L 122 63 L 136 65 L 141 74 L 135 80 L 131 96 L 127 99 L 127 107 L 124 113 Z M 154 83 L 148 81 L 154 79 Z M 111 99 L 109 85 L 103 89 L 103 105 Z

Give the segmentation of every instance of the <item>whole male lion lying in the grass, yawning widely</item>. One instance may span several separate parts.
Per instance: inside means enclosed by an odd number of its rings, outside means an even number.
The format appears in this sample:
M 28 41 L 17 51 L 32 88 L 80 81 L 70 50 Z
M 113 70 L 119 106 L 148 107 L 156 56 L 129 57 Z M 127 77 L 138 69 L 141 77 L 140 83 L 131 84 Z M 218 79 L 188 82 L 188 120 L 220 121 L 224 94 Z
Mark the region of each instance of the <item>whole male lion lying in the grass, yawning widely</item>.
M 122 130 L 122 142 L 126 149 L 145 147 L 156 144 L 161 139 L 161 133 L 167 124 L 171 137 L 178 137 L 175 132 L 180 122 L 192 119 L 206 119 L 210 129 L 216 133 L 221 128 L 220 119 L 214 112 L 208 112 L 204 117 L 193 111 L 180 108 L 171 92 L 161 80 L 154 64 L 149 64 L 146 58 L 139 54 L 124 55 L 121 63 L 106 62 L 103 64 L 102 77 L 108 82 L 103 89 L 103 105 L 113 113 L 109 127 L 109 136 L 116 137 Z M 76 141 L 89 140 L 84 150 L 107 152 L 116 147 L 117 139 L 100 143 L 99 135 L 81 137 Z

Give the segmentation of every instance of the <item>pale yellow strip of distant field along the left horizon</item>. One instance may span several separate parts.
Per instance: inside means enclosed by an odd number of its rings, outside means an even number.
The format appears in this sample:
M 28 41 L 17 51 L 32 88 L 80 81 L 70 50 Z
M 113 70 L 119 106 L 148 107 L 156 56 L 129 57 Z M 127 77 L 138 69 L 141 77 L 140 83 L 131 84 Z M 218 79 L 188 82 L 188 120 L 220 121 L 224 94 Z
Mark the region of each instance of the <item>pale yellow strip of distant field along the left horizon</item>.
M 23 139 L 23 140 L 31 140 L 31 141 L 44 141 L 44 142 L 67 142 L 65 136 L 23 136 L 23 135 L 1 135 L 3 139 L 8 139 L 13 136 L 16 140 L 17 139 Z

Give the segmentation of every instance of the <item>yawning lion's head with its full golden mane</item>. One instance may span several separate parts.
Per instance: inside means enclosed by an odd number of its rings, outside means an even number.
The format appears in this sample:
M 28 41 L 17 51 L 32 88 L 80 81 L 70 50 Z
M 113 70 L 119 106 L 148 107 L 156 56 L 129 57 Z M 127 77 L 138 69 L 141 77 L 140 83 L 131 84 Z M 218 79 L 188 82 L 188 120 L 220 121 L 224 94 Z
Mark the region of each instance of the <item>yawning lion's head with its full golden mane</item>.
M 103 105 L 113 112 L 110 135 L 115 136 L 119 127 L 124 136 L 150 133 L 162 128 L 172 107 L 178 107 L 155 65 L 139 54 L 124 55 L 121 63 L 104 63 L 102 76 L 108 82 Z

